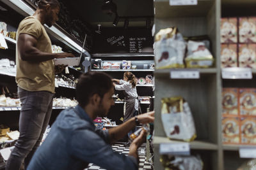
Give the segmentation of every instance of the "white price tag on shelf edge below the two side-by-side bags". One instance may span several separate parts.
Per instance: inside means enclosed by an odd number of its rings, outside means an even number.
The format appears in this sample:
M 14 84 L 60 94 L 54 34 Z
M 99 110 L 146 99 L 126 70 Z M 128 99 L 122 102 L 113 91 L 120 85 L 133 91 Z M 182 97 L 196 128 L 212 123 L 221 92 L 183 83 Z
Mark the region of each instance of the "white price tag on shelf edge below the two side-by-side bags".
M 200 73 L 196 69 L 173 69 L 171 70 L 170 77 L 172 79 L 198 79 L 200 78 Z

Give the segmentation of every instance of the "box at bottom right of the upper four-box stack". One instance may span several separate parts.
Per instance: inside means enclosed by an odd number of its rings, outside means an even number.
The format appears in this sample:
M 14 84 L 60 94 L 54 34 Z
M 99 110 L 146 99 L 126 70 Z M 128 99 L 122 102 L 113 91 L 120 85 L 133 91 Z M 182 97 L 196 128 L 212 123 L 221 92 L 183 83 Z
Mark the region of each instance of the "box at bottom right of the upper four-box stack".
M 256 68 L 256 44 L 239 44 L 239 67 Z

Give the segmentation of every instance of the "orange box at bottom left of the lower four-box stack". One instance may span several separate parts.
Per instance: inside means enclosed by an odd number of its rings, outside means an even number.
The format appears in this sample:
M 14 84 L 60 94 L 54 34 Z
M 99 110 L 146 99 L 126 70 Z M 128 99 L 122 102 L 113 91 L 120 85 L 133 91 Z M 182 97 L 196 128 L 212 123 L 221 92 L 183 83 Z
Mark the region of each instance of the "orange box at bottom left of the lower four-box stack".
M 222 118 L 222 142 L 225 144 L 239 144 L 240 118 Z

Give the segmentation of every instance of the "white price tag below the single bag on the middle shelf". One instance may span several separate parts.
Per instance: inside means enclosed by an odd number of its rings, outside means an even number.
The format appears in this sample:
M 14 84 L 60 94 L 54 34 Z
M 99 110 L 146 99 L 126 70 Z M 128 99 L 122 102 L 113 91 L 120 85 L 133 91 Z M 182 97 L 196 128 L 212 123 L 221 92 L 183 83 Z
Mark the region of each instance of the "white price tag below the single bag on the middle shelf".
M 190 155 L 189 143 L 160 143 L 159 153 L 172 155 Z

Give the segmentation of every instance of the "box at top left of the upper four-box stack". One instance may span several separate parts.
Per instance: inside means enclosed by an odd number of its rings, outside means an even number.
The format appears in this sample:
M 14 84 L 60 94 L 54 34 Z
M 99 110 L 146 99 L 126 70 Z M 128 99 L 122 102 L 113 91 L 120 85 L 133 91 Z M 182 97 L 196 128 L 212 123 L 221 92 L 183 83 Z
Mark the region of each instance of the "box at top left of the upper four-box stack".
M 221 43 L 237 43 L 237 18 L 221 18 Z

